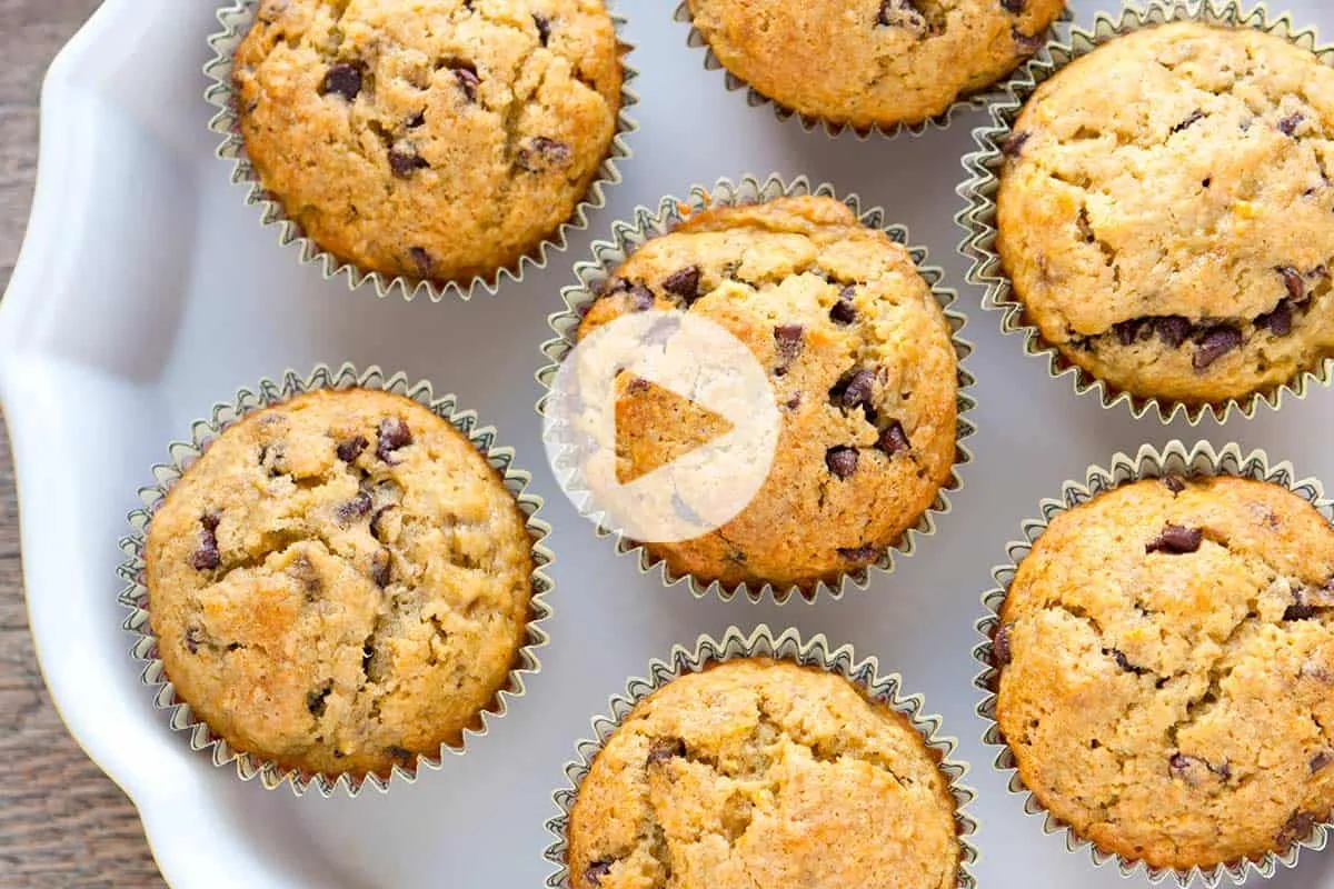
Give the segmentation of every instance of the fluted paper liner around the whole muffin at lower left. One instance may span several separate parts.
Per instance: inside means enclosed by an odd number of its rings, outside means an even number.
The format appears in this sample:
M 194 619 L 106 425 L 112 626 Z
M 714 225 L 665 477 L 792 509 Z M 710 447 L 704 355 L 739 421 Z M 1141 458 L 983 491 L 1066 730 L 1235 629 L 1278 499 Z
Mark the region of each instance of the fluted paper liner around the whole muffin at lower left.
M 527 517 L 528 536 L 532 538 L 532 600 L 528 605 L 528 625 L 524 644 L 516 653 L 515 666 L 510 670 L 506 685 L 496 693 L 495 700 L 479 714 L 480 728 L 470 728 L 463 732 L 463 741 L 458 746 L 442 745 L 435 757 L 419 756 L 412 768 L 403 768 L 398 764 L 392 766 L 388 778 L 378 774 L 367 774 L 356 778 L 350 774 L 329 776 L 323 773 L 307 773 L 300 769 L 289 769 L 259 756 L 233 749 L 225 740 L 213 734 L 208 725 L 197 718 L 185 701 L 176 696 L 176 689 L 167 677 L 163 662 L 157 653 L 157 637 L 153 634 L 148 612 L 148 588 L 144 585 L 144 545 L 148 525 L 153 513 L 164 502 L 167 493 L 189 469 L 189 466 L 204 453 L 208 445 L 224 429 L 235 424 L 248 413 L 267 408 L 269 405 L 287 401 L 303 392 L 315 389 L 382 389 L 412 399 L 418 404 L 428 408 L 436 416 L 448 420 L 459 432 L 472 443 L 472 445 L 487 458 L 487 461 L 504 478 L 504 486 L 518 500 L 519 508 Z M 243 781 L 259 778 L 259 782 L 272 790 L 284 782 L 289 782 L 292 790 L 301 796 L 313 788 L 320 796 L 329 797 L 339 789 L 348 796 L 356 796 L 367 786 L 386 792 L 394 777 L 402 784 L 411 784 L 422 766 L 439 769 L 444 764 L 446 754 L 462 756 L 471 738 L 482 737 L 490 730 L 490 724 L 500 718 L 508 710 L 510 702 L 523 697 L 524 678 L 540 672 L 538 649 L 543 648 L 548 636 L 540 624 L 551 617 L 552 609 L 547 604 L 546 596 L 554 584 L 546 573 L 546 566 L 551 564 L 554 554 L 542 541 L 551 533 L 551 526 L 540 521 L 536 514 L 542 509 L 542 498 L 524 493 L 531 481 L 527 472 L 514 468 L 514 449 L 500 448 L 495 444 L 496 432 L 492 427 L 479 427 L 478 415 L 472 411 L 460 411 L 452 395 L 435 397 L 430 383 L 410 383 L 408 379 L 396 373 L 386 376 L 378 367 L 371 367 L 359 373 L 351 364 L 344 364 L 338 369 L 319 365 L 305 377 L 293 371 L 287 371 L 279 380 L 263 380 L 253 392 L 240 389 L 236 400 L 229 404 L 217 404 L 207 420 L 196 420 L 191 425 L 189 441 L 173 441 L 168 446 L 171 461 L 153 466 L 156 484 L 141 488 L 139 498 L 144 508 L 129 513 L 129 525 L 133 533 L 120 541 L 120 549 L 125 556 L 117 573 L 127 586 L 120 593 L 120 604 L 131 610 L 131 616 L 124 622 L 124 629 L 135 633 L 135 645 L 131 654 L 143 664 L 141 680 L 144 685 L 153 689 L 153 708 L 164 710 L 169 716 L 169 725 L 177 732 L 189 734 L 192 750 L 211 750 L 213 765 L 225 766 L 236 764 L 236 774 Z

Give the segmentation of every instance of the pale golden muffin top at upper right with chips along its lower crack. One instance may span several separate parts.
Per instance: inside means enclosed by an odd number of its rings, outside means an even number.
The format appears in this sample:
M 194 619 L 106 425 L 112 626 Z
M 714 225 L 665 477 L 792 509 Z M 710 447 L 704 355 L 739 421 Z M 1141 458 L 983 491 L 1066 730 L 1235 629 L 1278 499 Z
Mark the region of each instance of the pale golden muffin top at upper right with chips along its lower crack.
M 1217 404 L 1334 353 L 1334 69 L 1309 51 L 1186 21 L 1117 37 L 1002 149 L 1025 317 L 1115 391 Z

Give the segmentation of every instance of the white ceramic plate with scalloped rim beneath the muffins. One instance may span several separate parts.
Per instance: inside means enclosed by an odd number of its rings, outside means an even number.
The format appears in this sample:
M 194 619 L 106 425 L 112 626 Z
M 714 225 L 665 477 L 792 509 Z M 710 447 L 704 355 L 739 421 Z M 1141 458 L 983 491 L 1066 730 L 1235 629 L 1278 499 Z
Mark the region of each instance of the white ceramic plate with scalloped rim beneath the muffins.
M 728 624 L 796 625 L 852 642 L 903 673 L 910 692 L 944 716 L 972 762 L 982 822 L 983 886 L 1121 886 L 1110 868 L 1065 852 L 1025 817 L 979 741 L 980 694 L 970 650 L 990 566 L 1038 500 L 1083 477 L 1090 462 L 1145 441 L 1238 440 L 1334 482 L 1334 393 L 1317 389 L 1281 412 L 1225 429 L 1206 421 L 1163 429 L 1077 399 L 1042 361 L 1002 337 L 963 288 L 955 255 L 959 157 L 971 148 L 966 115 L 947 132 L 892 141 L 830 140 L 752 109 L 686 47 L 668 3 L 622 4 L 643 101 L 626 183 L 591 232 L 551 268 L 471 303 L 378 300 L 321 283 L 276 247 L 273 229 L 228 184 L 213 157 L 201 93 L 213 0 L 107 0 L 61 53 L 43 99 L 41 160 L 28 241 L 0 308 L 0 395 L 13 437 L 23 501 L 24 568 L 32 630 L 71 732 L 135 800 L 153 853 L 177 888 L 538 886 L 548 872 L 543 822 L 550 793 L 588 720 L 631 674 L 672 642 L 720 634 Z M 1087 25 L 1097 0 L 1077 0 Z M 1334 33 L 1325 0 L 1290 0 L 1298 21 Z M 636 204 L 692 183 L 742 172 L 806 173 L 883 204 L 931 248 L 970 313 L 978 349 L 976 454 L 955 510 L 892 577 L 840 602 L 776 608 L 694 601 L 663 590 L 596 540 L 555 489 L 539 443 L 534 372 L 547 315 L 592 237 Z M 456 392 L 519 450 L 544 517 L 555 525 L 556 618 L 544 670 L 530 693 L 467 757 L 447 760 L 414 786 L 358 800 L 295 798 L 243 784 L 191 753 L 149 706 L 120 629 L 117 537 L 135 489 L 188 423 L 237 387 L 320 361 L 378 363 Z M 1334 889 L 1334 854 L 1305 854 L 1274 889 Z M 850 888 L 851 889 L 851 888 Z

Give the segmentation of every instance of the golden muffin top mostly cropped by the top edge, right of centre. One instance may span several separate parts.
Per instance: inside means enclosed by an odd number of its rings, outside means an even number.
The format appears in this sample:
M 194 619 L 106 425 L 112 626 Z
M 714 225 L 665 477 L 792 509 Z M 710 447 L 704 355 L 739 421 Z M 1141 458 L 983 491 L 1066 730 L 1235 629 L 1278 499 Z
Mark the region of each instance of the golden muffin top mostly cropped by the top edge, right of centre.
M 734 75 L 856 129 L 915 124 L 1035 53 L 1063 0 L 690 0 Z

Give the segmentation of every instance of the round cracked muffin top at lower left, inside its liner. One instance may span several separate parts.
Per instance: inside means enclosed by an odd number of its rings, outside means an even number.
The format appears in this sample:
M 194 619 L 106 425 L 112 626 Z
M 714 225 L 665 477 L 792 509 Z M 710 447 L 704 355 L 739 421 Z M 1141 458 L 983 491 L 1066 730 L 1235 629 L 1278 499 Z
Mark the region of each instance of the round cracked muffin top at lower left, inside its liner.
M 148 528 L 167 677 L 237 750 L 387 774 L 458 744 L 527 628 L 532 544 L 450 423 L 316 391 L 229 427 Z

